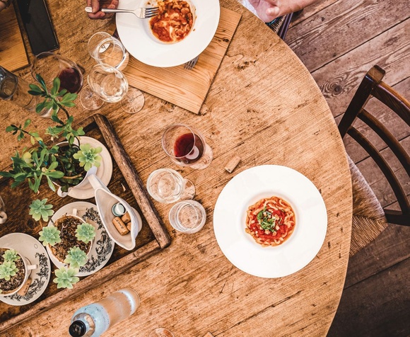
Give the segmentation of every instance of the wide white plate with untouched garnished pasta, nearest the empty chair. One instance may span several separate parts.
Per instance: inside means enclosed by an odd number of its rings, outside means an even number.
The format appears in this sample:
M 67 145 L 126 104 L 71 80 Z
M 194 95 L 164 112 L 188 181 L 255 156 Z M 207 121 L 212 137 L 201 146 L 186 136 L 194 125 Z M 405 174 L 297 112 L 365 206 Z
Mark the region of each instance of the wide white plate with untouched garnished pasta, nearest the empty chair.
M 302 173 L 286 166 L 255 166 L 221 191 L 213 231 L 237 268 L 281 278 L 304 268 L 320 251 L 327 210 L 319 190 Z

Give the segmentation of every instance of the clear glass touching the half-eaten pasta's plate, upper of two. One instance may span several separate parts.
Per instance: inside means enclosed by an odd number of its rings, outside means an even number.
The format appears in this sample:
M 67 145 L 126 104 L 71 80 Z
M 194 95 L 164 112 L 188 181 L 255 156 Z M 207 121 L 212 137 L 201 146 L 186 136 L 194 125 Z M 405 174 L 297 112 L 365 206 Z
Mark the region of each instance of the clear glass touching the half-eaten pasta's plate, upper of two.
M 88 40 L 88 52 L 97 63 L 109 64 L 119 70 L 127 67 L 129 55 L 124 45 L 112 35 L 98 32 Z

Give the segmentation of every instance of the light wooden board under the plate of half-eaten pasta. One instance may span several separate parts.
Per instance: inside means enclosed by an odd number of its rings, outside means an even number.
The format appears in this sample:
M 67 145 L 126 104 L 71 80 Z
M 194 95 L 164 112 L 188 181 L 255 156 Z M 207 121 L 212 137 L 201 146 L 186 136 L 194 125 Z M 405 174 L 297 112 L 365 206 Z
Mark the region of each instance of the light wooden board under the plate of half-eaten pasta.
M 192 70 L 184 69 L 183 64 L 169 68 L 152 67 L 130 57 L 124 69 L 129 84 L 192 113 L 199 113 L 240 18 L 240 14 L 221 8 L 216 34 Z

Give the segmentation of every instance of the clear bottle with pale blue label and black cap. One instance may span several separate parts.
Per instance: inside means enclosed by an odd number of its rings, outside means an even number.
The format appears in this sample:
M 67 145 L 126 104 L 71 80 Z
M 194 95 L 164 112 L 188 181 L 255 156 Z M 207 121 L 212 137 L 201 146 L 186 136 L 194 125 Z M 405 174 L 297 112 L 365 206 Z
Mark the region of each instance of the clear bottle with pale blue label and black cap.
M 73 337 L 98 337 L 134 314 L 138 307 L 139 295 L 135 290 L 118 290 L 105 299 L 78 309 L 71 318 L 69 333 Z

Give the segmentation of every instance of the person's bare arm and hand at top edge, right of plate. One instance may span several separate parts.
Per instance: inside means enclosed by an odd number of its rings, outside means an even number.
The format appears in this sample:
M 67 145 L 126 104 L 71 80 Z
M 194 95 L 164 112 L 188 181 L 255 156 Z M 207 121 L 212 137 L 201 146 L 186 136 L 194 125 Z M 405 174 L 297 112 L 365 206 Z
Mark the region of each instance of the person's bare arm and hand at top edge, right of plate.
M 249 0 L 259 18 L 270 22 L 279 16 L 300 11 L 317 0 Z

